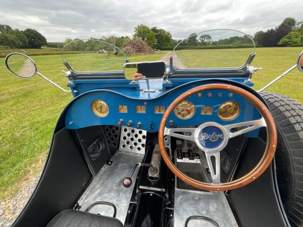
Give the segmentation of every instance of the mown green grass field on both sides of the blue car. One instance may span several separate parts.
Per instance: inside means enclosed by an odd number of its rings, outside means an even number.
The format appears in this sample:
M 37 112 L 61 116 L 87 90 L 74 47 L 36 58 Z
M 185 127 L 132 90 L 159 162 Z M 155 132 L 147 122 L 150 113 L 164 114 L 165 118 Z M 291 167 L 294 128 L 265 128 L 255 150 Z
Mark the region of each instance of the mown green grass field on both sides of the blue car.
M 302 47 L 258 48 L 257 57 L 252 65 L 262 67 L 263 70 L 253 77 L 256 88 L 261 88 L 294 65 L 301 50 Z M 30 53 L 30 50 L 27 51 Z M 43 51 L 49 54 L 51 50 L 38 51 L 40 54 L 43 54 Z M 0 56 L 7 53 L 9 53 L 7 50 L 0 50 Z M 165 54 L 166 52 L 161 52 L 129 58 L 131 62 L 156 61 Z M 76 58 L 77 54 L 72 55 L 71 58 Z M 191 54 L 188 56 L 197 57 Z M 67 79 L 61 72 L 66 68 L 62 64 L 61 55 L 36 55 L 32 58 L 40 73 L 66 88 Z M 118 63 L 121 61 L 116 61 L 114 56 L 107 61 L 113 68 L 120 67 Z M 82 64 L 93 66 L 94 63 Z M 302 77 L 303 74 L 294 70 L 268 90 L 282 93 L 303 103 Z M 63 93 L 39 76 L 20 79 L 11 75 L 5 67 L 4 58 L 0 58 L 0 84 L 0 200 L 2 200 L 14 195 L 22 181 L 41 168 L 58 117 L 72 96 Z

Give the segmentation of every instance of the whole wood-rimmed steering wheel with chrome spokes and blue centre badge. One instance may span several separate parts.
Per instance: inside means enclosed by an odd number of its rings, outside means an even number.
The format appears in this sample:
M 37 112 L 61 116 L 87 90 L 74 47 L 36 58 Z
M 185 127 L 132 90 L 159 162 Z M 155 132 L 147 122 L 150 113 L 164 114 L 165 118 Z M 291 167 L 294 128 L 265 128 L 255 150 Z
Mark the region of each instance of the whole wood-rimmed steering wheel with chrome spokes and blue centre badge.
M 201 124 L 197 128 L 166 128 L 165 127 L 171 112 L 174 110 L 174 108 L 180 101 L 187 98 L 188 96 L 193 95 L 196 92 L 206 91 L 210 89 L 227 90 L 241 95 L 243 98 L 246 98 L 252 104 L 255 105 L 255 107 L 260 112 L 261 118 L 255 121 L 235 123 L 225 126 L 222 126 L 215 122 L 206 122 L 204 124 Z M 241 127 L 239 131 L 231 131 L 234 128 L 239 129 L 239 127 Z M 244 133 L 250 132 L 252 130 L 261 127 L 266 128 L 267 144 L 266 144 L 265 152 L 262 158 L 260 159 L 260 161 L 258 162 L 258 164 L 245 176 L 236 180 L 232 180 L 230 182 L 221 183 L 220 182 L 220 168 L 221 168 L 220 151 L 225 148 L 230 138 L 242 135 Z M 210 131 L 217 132 L 218 140 L 216 141 L 217 143 L 215 145 L 214 144 L 210 145 L 209 140 L 207 140 L 205 137 L 206 132 L 210 132 Z M 183 135 L 182 133 L 180 134 L 180 132 L 185 132 L 185 133 L 183 133 L 184 134 Z M 210 168 L 211 176 L 213 179 L 212 183 L 205 183 L 205 182 L 194 180 L 183 174 L 173 164 L 164 146 L 164 137 L 166 135 L 195 142 L 198 148 L 205 152 L 206 159 Z M 180 180 L 199 189 L 211 190 L 211 191 L 226 191 L 226 190 L 233 190 L 243 187 L 249 184 L 250 182 L 256 180 L 264 173 L 264 171 L 270 165 L 276 151 L 277 131 L 276 131 L 274 119 L 272 118 L 270 111 L 268 110 L 266 105 L 256 96 L 252 95 L 251 93 L 249 93 L 248 91 L 242 88 L 228 84 L 207 84 L 207 85 L 201 85 L 199 87 L 192 88 L 184 92 L 169 105 L 160 123 L 158 140 L 159 140 L 160 151 L 165 163 Z M 211 161 L 212 156 L 216 158 L 214 164 L 215 166 L 213 166 L 213 163 Z

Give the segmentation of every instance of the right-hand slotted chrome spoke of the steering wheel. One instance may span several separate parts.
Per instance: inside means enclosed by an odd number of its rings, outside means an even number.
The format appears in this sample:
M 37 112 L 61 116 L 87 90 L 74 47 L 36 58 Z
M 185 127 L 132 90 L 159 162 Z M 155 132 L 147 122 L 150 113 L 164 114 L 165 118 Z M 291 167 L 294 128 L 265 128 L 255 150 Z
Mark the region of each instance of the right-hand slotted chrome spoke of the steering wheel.
M 261 127 L 267 127 L 265 119 L 261 118 L 259 120 L 255 120 L 255 121 L 248 121 L 248 122 L 241 122 L 241 123 L 235 123 L 235 124 L 231 124 L 231 125 L 225 125 L 223 126 L 228 133 L 228 137 L 233 138 L 236 136 L 240 136 L 244 133 L 248 133 L 251 132 L 255 129 L 259 129 Z M 237 129 L 237 131 L 232 132 L 232 129 Z

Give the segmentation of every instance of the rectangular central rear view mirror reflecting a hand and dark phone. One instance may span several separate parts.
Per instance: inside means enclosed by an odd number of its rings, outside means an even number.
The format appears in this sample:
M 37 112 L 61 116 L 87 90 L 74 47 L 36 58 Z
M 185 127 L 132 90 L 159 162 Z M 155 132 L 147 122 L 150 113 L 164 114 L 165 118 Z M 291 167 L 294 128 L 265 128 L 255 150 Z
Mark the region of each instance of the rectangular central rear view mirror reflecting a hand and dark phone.
M 124 64 L 124 76 L 126 80 L 163 78 L 165 73 L 165 62 L 139 62 Z

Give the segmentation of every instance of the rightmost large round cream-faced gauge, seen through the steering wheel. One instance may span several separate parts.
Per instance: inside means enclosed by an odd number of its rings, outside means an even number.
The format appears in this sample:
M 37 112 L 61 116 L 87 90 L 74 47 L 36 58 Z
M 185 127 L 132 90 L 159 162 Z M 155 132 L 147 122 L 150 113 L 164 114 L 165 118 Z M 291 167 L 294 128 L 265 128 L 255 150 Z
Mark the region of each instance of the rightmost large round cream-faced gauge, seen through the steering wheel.
M 235 101 L 223 102 L 218 109 L 218 116 L 222 120 L 235 119 L 240 113 L 240 105 Z

